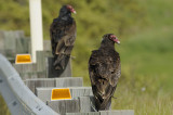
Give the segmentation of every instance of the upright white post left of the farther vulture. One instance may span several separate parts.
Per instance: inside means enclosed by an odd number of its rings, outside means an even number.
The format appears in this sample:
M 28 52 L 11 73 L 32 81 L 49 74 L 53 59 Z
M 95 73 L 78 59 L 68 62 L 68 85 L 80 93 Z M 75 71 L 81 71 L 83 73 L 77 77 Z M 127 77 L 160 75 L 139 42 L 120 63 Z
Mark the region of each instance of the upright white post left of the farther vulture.
M 32 54 L 32 61 L 34 63 L 36 63 L 36 51 L 43 50 L 41 0 L 29 0 L 29 9 L 30 9 L 31 54 Z

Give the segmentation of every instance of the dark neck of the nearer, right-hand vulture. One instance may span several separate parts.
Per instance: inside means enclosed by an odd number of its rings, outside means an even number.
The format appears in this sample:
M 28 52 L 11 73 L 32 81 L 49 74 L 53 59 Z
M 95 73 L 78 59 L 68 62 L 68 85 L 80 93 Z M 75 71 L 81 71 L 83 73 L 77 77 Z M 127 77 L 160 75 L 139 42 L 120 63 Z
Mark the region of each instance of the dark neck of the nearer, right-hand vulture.
M 103 40 L 101 42 L 99 50 L 101 49 L 103 49 L 103 50 L 115 50 L 115 42 L 110 41 L 109 39 L 108 40 Z

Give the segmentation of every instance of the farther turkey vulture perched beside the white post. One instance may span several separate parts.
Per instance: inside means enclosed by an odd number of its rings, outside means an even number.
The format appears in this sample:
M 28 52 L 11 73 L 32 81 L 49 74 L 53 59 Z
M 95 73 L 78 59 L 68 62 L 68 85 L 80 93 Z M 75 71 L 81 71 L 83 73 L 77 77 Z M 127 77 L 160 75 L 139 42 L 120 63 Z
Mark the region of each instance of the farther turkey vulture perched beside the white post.
M 69 61 L 76 39 L 76 22 L 71 17 L 75 9 L 67 4 L 63 5 L 58 17 L 53 20 L 50 27 L 53 65 L 55 69 L 64 69 Z

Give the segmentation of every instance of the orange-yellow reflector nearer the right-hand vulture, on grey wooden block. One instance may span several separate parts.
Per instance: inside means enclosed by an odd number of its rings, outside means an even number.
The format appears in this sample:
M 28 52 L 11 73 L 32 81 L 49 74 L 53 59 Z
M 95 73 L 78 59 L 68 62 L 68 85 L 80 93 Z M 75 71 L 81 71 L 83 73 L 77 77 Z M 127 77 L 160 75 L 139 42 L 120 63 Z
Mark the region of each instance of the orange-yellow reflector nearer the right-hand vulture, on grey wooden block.
M 71 99 L 69 88 L 65 89 L 52 89 L 52 97 L 51 100 L 69 100 Z

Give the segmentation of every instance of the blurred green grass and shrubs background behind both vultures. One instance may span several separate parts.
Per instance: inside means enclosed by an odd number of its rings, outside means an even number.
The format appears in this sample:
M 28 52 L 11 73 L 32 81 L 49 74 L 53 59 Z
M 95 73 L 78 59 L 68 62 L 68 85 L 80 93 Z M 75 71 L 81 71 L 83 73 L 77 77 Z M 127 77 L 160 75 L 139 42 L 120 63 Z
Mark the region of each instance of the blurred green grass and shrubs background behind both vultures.
M 0 29 L 23 29 L 30 36 L 28 0 L 0 0 Z M 42 0 L 43 37 L 62 4 L 77 11 L 72 50 L 74 76 L 90 86 L 88 61 L 102 36 L 112 33 L 121 56 L 121 78 L 114 110 L 135 115 L 173 115 L 173 0 Z M 0 115 L 9 115 L 0 98 Z

